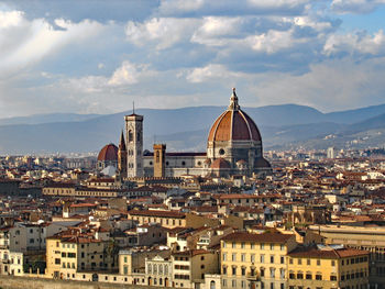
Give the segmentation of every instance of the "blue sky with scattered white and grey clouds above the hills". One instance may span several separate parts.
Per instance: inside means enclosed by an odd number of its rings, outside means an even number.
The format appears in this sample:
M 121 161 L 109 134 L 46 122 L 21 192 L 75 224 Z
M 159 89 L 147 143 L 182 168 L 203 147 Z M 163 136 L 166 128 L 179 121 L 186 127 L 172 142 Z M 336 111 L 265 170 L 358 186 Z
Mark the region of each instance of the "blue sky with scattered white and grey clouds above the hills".
M 385 0 L 0 1 L 0 118 L 385 103 Z

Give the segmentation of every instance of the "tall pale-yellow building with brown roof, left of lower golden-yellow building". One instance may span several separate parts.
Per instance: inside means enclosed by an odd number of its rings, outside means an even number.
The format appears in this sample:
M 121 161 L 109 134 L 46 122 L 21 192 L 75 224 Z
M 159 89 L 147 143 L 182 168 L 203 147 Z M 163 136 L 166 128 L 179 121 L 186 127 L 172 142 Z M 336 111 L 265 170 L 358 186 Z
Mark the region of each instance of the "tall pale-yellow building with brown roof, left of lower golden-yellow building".
M 294 234 L 235 232 L 221 241 L 222 288 L 286 288 Z

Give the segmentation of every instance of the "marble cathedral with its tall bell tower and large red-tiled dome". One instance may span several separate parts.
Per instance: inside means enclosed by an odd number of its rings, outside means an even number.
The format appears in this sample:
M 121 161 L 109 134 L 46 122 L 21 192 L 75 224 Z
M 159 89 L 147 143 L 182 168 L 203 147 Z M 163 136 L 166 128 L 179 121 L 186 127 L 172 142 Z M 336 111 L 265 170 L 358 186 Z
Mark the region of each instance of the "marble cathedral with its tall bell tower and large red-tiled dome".
M 255 122 L 239 104 L 233 88 L 228 109 L 213 122 L 206 153 L 167 153 L 166 144 L 154 144 L 143 153 L 143 115 L 124 116 L 117 152 L 119 175 L 134 177 L 179 177 L 183 175 L 230 177 L 270 174 L 263 157 L 262 137 Z

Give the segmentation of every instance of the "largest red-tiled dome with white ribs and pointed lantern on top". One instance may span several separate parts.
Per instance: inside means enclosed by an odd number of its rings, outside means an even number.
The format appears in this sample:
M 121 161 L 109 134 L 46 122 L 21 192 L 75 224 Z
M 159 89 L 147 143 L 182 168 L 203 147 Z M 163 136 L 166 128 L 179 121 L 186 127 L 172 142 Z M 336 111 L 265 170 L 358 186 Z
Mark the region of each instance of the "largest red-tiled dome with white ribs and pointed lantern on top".
M 240 109 L 235 89 L 230 105 L 212 124 L 208 142 L 255 141 L 261 142 L 260 131 L 254 121 Z

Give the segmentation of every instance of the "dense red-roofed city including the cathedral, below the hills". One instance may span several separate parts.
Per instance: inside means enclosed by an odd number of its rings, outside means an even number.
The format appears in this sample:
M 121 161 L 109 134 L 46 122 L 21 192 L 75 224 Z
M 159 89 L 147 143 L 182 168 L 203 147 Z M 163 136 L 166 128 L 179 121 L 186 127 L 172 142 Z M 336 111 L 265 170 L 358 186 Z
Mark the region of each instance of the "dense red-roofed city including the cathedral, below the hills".
M 194 289 L 385 288 L 382 149 L 263 153 L 242 113 L 233 91 L 207 154 L 165 144 L 143 152 L 143 118 L 133 113 L 119 146 L 97 158 L 2 157 L 0 274 Z

